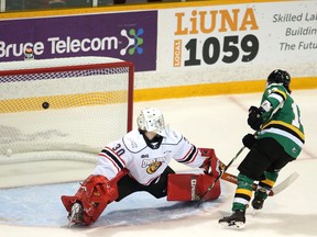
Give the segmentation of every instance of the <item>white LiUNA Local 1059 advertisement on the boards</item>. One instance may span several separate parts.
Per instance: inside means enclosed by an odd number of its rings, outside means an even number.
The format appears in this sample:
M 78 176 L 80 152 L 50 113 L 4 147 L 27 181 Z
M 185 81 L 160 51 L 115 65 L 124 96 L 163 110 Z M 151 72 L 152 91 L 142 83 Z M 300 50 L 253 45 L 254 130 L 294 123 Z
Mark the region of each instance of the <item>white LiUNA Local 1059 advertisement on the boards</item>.
M 199 68 L 214 76 L 212 69 L 221 75 L 239 69 L 241 78 L 256 78 L 264 65 L 266 71 L 292 65 L 304 69 L 300 64 L 317 61 L 316 9 L 316 1 L 287 1 L 160 11 L 158 32 L 170 26 L 158 42 L 158 49 L 165 48 L 158 50 L 158 68 L 179 74 Z

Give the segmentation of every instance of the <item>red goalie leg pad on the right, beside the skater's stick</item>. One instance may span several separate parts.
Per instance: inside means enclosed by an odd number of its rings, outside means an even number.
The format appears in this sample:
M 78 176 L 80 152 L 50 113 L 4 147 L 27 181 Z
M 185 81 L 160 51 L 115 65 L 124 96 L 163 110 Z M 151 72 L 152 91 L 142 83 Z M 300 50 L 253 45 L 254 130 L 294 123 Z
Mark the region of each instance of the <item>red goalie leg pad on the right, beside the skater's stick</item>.
M 217 177 L 194 173 L 170 173 L 167 201 L 198 201 Z M 216 200 L 221 193 L 220 182 L 206 194 L 206 201 Z

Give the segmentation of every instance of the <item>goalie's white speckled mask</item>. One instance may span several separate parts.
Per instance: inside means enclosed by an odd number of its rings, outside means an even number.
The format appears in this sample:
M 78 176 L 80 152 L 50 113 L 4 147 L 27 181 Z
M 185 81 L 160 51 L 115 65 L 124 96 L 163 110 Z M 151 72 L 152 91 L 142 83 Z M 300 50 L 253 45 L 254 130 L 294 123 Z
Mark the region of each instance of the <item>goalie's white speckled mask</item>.
M 141 131 L 153 132 L 161 136 L 166 136 L 164 117 L 157 109 L 143 109 L 136 119 L 136 123 Z

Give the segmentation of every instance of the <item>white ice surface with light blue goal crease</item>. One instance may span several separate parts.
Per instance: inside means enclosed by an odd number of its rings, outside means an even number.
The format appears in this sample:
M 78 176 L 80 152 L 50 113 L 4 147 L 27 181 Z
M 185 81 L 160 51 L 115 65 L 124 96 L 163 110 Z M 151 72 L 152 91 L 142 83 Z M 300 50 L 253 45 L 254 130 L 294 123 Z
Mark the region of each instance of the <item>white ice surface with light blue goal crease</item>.
M 292 86 L 291 86 L 292 88 Z M 221 195 L 214 202 L 195 205 L 156 200 L 147 193 L 134 193 L 120 203 L 111 203 L 100 218 L 89 227 L 67 228 L 66 211 L 61 195 L 72 195 L 94 168 L 94 163 L 73 165 L 65 169 L 32 172 L 25 169 L 2 169 L 0 184 L 15 180 L 21 187 L 0 189 L 1 237 L 194 237 L 194 236 L 317 236 L 317 90 L 298 90 L 292 93 L 300 108 L 306 144 L 298 159 L 286 166 L 277 184 L 294 171 L 299 178 L 283 192 L 269 198 L 262 211 L 247 212 L 242 230 L 225 229 L 218 219 L 230 214 L 234 185 L 221 181 Z M 216 155 L 228 163 L 242 147 L 241 138 L 253 133 L 247 124 L 248 109 L 259 105 L 262 93 L 230 94 L 204 98 L 185 98 L 134 103 L 134 117 L 145 106 L 161 110 L 165 122 L 178 129 L 197 147 L 215 148 Z M 135 121 L 135 120 L 134 120 Z M 135 125 L 135 124 L 134 124 Z M 237 174 L 237 166 L 248 149 L 238 157 L 228 170 Z M 183 165 L 171 165 L 176 171 L 188 172 Z M 76 167 L 77 170 L 74 170 Z M 30 171 L 31 170 L 31 171 Z M 53 170 L 53 172 L 52 172 Z M 70 170 L 70 171 L 69 171 Z M 196 172 L 197 170 L 193 170 Z M 77 172 L 77 181 L 32 185 L 44 177 L 67 177 Z M 63 180 L 63 179 L 62 179 Z

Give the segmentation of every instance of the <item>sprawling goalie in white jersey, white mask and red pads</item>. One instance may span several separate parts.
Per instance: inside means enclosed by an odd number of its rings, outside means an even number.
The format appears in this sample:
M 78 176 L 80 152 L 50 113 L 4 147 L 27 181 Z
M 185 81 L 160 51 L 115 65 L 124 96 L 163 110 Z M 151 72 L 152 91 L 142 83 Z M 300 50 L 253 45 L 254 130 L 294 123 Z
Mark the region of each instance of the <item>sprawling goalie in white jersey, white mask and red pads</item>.
M 156 199 L 166 196 L 167 177 L 175 173 L 168 166 L 172 159 L 193 168 L 203 168 L 208 173 L 199 174 L 198 181 L 194 182 L 200 193 L 215 180 L 210 180 L 210 177 L 219 174 L 219 161 L 215 153 L 208 155 L 212 149 L 197 148 L 177 131 L 170 129 L 157 109 L 143 109 L 136 123 L 136 129 L 108 144 L 100 151 L 92 174 L 81 183 L 74 196 L 62 196 L 70 226 L 90 225 L 109 203 L 118 202 L 133 192 L 145 191 Z M 207 151 L 207 155 L 203 157 L 201 150 Z M 168 187 L 172 187 L 168 190 L 172 192 L 173 183 L 168 183 Z M 193 185 L 188 185 L 188 192 L 193 192 Z M 218 187 L 210 192 L 209 200 L 219 195 Z

